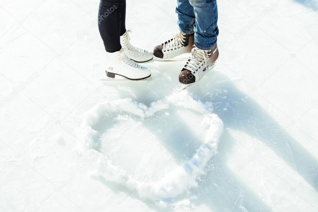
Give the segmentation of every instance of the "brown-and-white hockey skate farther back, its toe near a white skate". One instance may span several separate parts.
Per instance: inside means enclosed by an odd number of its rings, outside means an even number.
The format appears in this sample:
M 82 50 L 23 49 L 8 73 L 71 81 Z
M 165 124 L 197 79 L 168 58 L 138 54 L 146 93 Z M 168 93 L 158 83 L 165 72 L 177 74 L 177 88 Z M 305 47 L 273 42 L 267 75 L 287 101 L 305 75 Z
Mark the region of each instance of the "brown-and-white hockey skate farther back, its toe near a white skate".
M 194 45 L 194 34 L 179 32 L 165 43 L 154 49 L 155 60 L 178 61 L 190 58 L 190 52 Z

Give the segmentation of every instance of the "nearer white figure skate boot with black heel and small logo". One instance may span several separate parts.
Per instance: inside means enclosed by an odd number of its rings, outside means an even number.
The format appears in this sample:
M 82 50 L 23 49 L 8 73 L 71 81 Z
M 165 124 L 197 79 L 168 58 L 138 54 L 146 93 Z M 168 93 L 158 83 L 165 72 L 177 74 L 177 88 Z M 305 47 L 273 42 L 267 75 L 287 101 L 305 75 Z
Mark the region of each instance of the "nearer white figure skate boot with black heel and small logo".
M 150 69 L 129 59 L 123 49 L 114 53 L 107 52 L 106 56 L 106 75 L 109 78 L 141 80 L 151 76 Z

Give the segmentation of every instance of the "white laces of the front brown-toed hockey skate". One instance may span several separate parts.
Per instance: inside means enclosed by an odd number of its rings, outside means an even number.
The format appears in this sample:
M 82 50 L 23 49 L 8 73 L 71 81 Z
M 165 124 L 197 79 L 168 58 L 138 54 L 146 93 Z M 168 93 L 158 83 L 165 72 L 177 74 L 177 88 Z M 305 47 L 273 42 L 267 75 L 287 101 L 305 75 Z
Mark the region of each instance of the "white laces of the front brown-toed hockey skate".
M 207 58 L 209 58 L 211 53 L 208 53 L 208 51 L 198 49 L 197 47 L 193 48 L 191 53 L 192 56 L 184 65 L 184 69 L 187 69 L 192 73 L 195 73 L 198 70 L 198 68 L 201 68 L 201 66 L 203 65 L 205 65 L 205 68 L 207 69 L 205 61 L 207 60 Z

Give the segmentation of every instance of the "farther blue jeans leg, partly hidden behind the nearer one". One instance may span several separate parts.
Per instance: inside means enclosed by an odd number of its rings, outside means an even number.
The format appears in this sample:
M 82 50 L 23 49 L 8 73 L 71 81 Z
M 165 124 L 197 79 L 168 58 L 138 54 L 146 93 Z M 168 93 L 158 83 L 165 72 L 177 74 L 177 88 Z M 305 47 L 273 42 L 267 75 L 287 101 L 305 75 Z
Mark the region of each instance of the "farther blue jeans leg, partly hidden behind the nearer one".
M 178 25 L 184 34 L 193 34 L 195 23 L 194 9 L 189 0 L 177 0 L 176 13 L 178 14 Z

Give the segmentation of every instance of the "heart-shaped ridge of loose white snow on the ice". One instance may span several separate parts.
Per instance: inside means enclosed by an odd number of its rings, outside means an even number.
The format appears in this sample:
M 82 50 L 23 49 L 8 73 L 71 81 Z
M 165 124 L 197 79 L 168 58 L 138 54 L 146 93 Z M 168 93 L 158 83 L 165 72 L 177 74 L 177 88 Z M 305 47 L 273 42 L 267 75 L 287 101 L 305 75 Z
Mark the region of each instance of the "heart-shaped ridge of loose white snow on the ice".
M 94 126 L 102 117 L 110 113 L 128 113 L 143 119 L 171 106 L 203 113 L 204 120 L 199 127 L 204 127 L 207 131 L 204 143 L 197 149 L 196 154 L 190 160 L 177 166 L 174 171 L 166 174 L 161 180 L 142 183 L 134 176 L 128 175 L 125 170 L 114 166 L 107 155 L 101 153 L 99 132 L 94 129 Z M 77 136 L 86 142 L 86 147 L 80 147 L 79 151 L 87 158 L 99 154 L 94 176 L 102 176 L 107 181 L 113 181 L 129 188 L 138 188 L 139 195 L 165 206 L 167 202 L 172 202 L 170 198 L 198 185 L 198 178 L 204 174 L 208 161 L 217 152 L 219 137 L 223 132 L 223 122 L 212 111 L 210 102 L 202 103 L 200 100 L 194 100 L 188 91 L 173 93 L 165 99 L 151 103 L 149 107 L 130 98 L 107 100 L 94 106 L 84 116 Z

